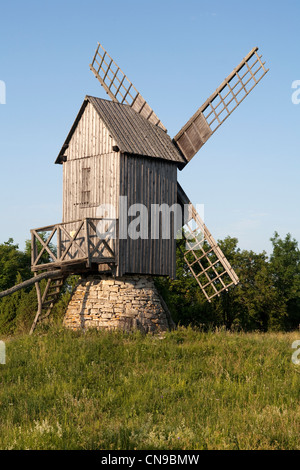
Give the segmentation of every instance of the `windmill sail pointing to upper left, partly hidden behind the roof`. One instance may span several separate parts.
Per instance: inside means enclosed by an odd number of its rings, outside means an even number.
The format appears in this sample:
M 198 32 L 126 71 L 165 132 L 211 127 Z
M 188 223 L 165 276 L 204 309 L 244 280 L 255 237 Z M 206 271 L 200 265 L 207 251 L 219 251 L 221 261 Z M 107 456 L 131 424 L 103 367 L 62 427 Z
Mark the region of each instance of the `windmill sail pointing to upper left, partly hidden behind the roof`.
M 113 101 L 128 104 L 152 124 L 166 131 L 146 100 L 99 43 L 90 69 Z

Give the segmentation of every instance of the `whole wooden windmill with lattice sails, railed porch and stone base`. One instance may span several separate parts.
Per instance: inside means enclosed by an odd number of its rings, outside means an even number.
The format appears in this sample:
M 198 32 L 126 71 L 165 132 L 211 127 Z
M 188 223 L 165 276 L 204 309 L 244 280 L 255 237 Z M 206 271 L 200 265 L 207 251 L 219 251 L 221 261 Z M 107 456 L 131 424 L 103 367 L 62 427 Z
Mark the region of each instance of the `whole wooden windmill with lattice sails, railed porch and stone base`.
M 176 226 L 172 223 L 175 215 L 170 213 L 170 236 L 161 236 L 158 226 L 155 232 L 158 236 L 151 237 L 153 206 L 177 204 L 184 209 L 180 225 L 187 226 L 190 233 L 184 258 L 208 301 L 238 283 L 234 270 L 177 182 L 177 170 L 188 164 L 268 70 L 258 48 L 252 49 L 171 139 L 149 104 L 100 44 L 90 69 L 110 100 L 85 97 L 55 162 L 63 166 L 63 221 L 31 231 L 32 270 L 54 273 L 43 298 L 40 296 L 37 317 L 42 311 L 44 316 L 49 315 L 64 278 L 70 273 L 79 273 L 89 276 L 89 281 L 82 281 L 84 285 L 81 283 L 78 287 L 77 297 L 69 309 L 68 326 L 78 327 L 79 321 L 84 327 L 117 326 L 118 321 L 126 317 L 125 310 L 133 312 L 135 325 L 144 322 L 149 326 L 143 319 L 144 312 L 147 318 L 151 317 L 149 305 L 157 307 L 156 315 L 161 314 L 159 299 L 153 294 L 152 277 L 176 276 L 175 232 L 178 228 L 178 220 Z M 126 201 L 126 210 L 121 208 L 120 200 Z M 132 221 L 132 207 L 136 204 L 142 204 L 151 215 L 145 228 L 147 233 L 129 237 L 128 231 L 123 233 L 124 226 L 128 228 Z M 99 214 L 99 206 L 104 205 L 115 208 L 113 216 Z M 161 218 L 155 220 L 155 224 L 161 223 Z M 104 223 L 107 236 L 99 237 L 99 222 Z M 199 233 L 200 239 L 197 238 Z M 193 237 L 196 238 L 192 240 Z M 45 254 L 48 255 L 46 263 L 43 261 Z M 111 286 L 108 297 L 98 286 L 101 295 L 97 294 L 95 306 L 91 301 L 95 298 L 94 293 L 90 293 L 91 286 L 105 280 L 105 289 Z M 128 290 L 127 281 L 134 285 L 134 295 Z M 137 300 L 138 289 L 141 299 L 148 302 L 144 312 L 143 303 Z M 114 292 L 117 294 L 112 295 Z M 127 292 L 129 299 L 120 292 Z M 150 300 L 149 292 L 154 295 Z M 151 321 L 152 330 L 157 324 L 161 325 L 155 318 Z

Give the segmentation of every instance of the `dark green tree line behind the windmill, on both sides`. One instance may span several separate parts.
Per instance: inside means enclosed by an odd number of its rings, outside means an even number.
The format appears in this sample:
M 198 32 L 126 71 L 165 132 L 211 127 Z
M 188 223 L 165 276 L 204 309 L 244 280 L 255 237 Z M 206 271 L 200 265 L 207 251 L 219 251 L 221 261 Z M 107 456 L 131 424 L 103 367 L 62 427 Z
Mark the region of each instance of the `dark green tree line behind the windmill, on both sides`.
M 277 232 L 271 238 L 272 253 L 241 250 L 238 240 L 226 237 L 218 244 L 239 277 L 208 303 L 182 254 L 184 240 L 177 242 L 175 280 L 156 278 L 174 321 L 201 328 L 226 327 L 243 331 L 290 331 L 300 324 L 300 250 L 298 242 Z M 46 261 L 46 260 L 45 260 Z M 12 239 L 0 244 L 0 292 L 32 277 L 30 241 L 22 251 Z M 71 276 L 56 303 L 52 321 L 61 321 L 77 277 Z M 44 283 L 45 285 L 45 283 Z M 43 288 L 43 286 L 42 286 Z M 0 334 L 27 332 L 37 310 L 35 287 L 0 299 Z

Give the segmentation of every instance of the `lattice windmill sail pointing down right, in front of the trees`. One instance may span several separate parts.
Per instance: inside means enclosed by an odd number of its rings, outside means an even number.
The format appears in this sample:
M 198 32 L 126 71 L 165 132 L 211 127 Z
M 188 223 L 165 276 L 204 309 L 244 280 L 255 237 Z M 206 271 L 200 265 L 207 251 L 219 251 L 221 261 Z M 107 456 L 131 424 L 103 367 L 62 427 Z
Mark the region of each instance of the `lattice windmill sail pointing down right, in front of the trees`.
M 188 229 L 184 260 L 206 299 L 211 301 L 230 286 L 237 285 L 239 279 L 179 183 L 177 199 L 179 204 L 188 207 L 183 220 Z M 195 228 L 192 228 L 191 221 L 194 221 Z

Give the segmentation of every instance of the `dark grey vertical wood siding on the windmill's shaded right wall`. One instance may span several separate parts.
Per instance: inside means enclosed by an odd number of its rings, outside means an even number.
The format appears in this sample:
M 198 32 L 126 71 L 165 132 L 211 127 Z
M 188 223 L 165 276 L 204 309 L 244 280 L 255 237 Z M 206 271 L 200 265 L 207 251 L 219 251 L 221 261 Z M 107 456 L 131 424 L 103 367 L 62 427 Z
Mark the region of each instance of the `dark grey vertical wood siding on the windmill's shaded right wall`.
M 169 240 L 152 240 L 151 204 L 177 202 L 177 167 L 172 162 L 121 155 L 120 157 L 120 194 L 128 197 L 128 207 L 135 203 L 148 208 L 147 240 L 120 240 L 119 273 L 176 275 L 176 240 L 172 234 Z M 134 219 L 129 218 L 130 221 Z

